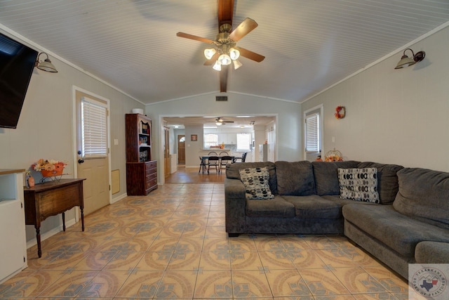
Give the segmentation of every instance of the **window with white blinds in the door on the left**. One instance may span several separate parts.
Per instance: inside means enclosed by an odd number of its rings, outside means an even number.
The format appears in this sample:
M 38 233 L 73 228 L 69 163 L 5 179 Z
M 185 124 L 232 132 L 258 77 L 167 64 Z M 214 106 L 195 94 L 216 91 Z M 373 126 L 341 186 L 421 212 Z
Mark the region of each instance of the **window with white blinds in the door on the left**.
M 81 155 L 107 157 L 107 107 L 98 101 L 81 98 Z

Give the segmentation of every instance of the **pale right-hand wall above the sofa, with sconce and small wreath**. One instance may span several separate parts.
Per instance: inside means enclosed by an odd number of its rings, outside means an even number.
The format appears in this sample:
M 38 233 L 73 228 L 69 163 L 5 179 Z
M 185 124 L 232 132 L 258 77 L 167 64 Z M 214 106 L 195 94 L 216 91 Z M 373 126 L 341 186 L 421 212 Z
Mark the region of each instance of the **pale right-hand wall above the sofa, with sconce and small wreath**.
M 323 154 L 335 147 L 345 159 L 449 171 L 449 27 L 410 48 L 426 58 L 394 70 L 396 53 L 302 105 L 324 105 Z

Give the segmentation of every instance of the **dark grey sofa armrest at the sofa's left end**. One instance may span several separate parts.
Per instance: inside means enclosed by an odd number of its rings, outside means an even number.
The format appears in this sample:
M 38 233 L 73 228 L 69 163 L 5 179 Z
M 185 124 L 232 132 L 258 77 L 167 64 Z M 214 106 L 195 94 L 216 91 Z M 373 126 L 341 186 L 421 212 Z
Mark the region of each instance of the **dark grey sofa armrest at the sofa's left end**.
M 227 233 L 238 234 L 245 232 L 245 186 L 239 179 L 225 178 L 225 222 Z

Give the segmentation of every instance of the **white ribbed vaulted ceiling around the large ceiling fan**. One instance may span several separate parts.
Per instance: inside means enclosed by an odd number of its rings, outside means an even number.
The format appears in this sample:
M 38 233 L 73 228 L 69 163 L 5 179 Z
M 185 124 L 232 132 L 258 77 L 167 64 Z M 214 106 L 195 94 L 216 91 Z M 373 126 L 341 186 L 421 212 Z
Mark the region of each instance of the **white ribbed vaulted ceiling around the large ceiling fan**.
M 147 104 L 220 93 L 203 65 L 208 45 L 176 36 L 215 39 L 217 14 L 215 0 L 0 0 L 0 29 Z M 245 18 L 258 27 L 238 45 L 265 59 L 241 58 L 227 91 L 301 102 L 384 56 L 399 60 L 447 25 L 449 1 L 235 0 L 233 25 Z

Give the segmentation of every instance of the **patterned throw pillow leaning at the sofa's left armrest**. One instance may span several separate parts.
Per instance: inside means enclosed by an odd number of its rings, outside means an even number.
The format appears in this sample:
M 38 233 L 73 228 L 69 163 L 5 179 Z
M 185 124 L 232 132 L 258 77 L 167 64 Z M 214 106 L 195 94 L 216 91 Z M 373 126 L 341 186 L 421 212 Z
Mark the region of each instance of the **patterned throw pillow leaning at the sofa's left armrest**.
M 267 200 L 274 198 L 272 191 L 269 190 L 269 174 L 267 168 L 247 168 L 241 169 L 239 172 L 241 182 L 245 185 L 247 200 Z

